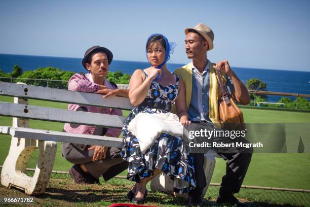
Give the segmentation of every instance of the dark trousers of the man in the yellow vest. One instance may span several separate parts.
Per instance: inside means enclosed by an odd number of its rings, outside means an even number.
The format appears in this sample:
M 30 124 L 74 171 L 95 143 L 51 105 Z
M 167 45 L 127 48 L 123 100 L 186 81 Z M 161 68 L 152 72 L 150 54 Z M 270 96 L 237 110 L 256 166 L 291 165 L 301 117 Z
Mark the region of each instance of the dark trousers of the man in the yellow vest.
M 186 127 L 188 131 L 191 130 L 213 130 L 213 124 L 209 123 L 191 123 Z M 217 142 L 230 143 L 234 140 L 230 139 L 230 137 L 217 137 Z M 247 142 L 244 140 L 244 142 Z M 211 148 L 215 151 L 219 156 L 221 156 L 224 160 L 226 160 L 226 174 L 222 178 L 220 193 L 238 193 L 243 179 L 248 170 L 251 157 L 252 157 L 252 148 L 247 149 L 246 151 L 241 152 L 237 150 L 236 152 L 232 152 L 231 149 L 225 148 Z M 229 152 L 229 153 L 225 153 Z M 196 153 L 192 154 L 195 165 L 195 177 L 197 182 L 197 189 L 195 189 L 195 193 L 202 194 L 204 187 L 206 187 L 206 177 L 203 169 L 204 164 L 204 154 Z

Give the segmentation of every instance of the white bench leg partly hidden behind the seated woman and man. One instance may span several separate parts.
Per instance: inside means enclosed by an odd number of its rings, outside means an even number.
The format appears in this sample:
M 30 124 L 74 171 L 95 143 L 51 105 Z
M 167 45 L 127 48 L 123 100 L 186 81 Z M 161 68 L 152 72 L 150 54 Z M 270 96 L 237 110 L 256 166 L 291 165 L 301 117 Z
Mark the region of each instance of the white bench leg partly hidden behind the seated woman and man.
M 207 186 L 203 190 L 202 194 L 203 197 L 205 196 L 208 190 L 213 175 L 214 167 L 215 167 L 215 158 L 212 156 L 205 155 L 204 169 L 205 169 Z M 169 194 L 174 194 L 173 188 L 175 185 L 176 184 L 174 183 L 174 181 L 172 181 L 168 176 L 166 176 L 166 174 L 164 174 L 164 172 L 162 172 L 160 175 L 151 180 L 150 188 L 152 191 L 161 191 Z M 187 194 L 183 194 L 180 196 L 186 198 Z

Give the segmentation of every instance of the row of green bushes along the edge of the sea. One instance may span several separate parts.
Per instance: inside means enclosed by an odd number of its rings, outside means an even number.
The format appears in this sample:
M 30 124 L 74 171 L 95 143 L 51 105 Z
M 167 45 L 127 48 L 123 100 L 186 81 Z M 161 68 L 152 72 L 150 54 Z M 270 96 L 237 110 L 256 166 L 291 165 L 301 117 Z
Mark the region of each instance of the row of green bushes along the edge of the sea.
M 25 71 L 23 72 L 22 68 L 18 65 L 13 67 L 12 73 L 3 73 L 0 69 L 0 81 L 10 82 L 10 78 L 13 79 L 12 82 L 23 82 L 28 85 L 35 85 L 35 86 L 48 86 L 52 88 L 61 88 L 67 89 L 68 88 L 68 80 L 71 76 L 73 76 L 74 72 L 71 71 L 62 71 L 56 67 L 40 67 L 34 71 Z M 115 73 L 108 72 L 106 76 L 107 80 L 110 82 L 114 82 L 117 84 L 129 84 L 130 75 L 123 74 L 121 71 L 117 71 Z M 46 79 L 51 80 L 47 83 L 47 81 L 43 80 L 27 80 L 27 79 Z M 59 81 L 53 81 L 59 80 Z M 257 79 L 251 78 L 247 80 L 246 87 L 249 90 L 262 90 L 266 91 L 266 83 Z M 267 96 L 266 95 L 257 95 L 257 94 L 250 94 L 251 103 L 250 106 L 257 106 L 258 102 L 266 102 Z M 303 110 L 310 110 L 310 101 L 303 97 L 297 97 L 292 100 L 289 97 L 282 97 L 279 103 L 285 103 L 284 108 L 289 109 L 303 109 Z M 280 107 L 279 105 L 264 105 L 263 107 Z

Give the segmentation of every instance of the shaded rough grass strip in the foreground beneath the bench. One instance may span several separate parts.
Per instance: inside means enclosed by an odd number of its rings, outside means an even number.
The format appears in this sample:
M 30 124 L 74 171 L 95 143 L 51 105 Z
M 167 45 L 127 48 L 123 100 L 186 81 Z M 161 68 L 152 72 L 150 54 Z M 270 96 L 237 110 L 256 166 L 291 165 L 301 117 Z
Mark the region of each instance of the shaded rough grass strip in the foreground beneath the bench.
M 26 172 L 32 176 L 33 172 Z M 69 175 L 52 174 L 45 193 L 35 196 L 31 206 L 108 206 L 112 203 L 128 203 L 126 193 L 132 183 L 124 179 L 111 179 L 104 182 L 100 178 L 101 184 L 83 185 L 74 184 Z M 210 186 L 204 206 L 230 206 L 216 203 L 219 187 Z M 8 189 L 0 185 L 0 197 L 28 197 L 17 189 Z M 305 193 L 279 192 L 269 190 L 241 189 L 236 195 L 242 202 L 246 202 L 249 207 L 293 207 L 308 206 L 310 200 Z M 292 197 L 293 196 L 293 197 Z M 273 199 L 270 200 L 269 197 Z M 158 191 L 149 191 L 146 199 L 147 206 L 160 207 L 185 207 L 186 199 L 174 197 Z M 15 206 L 15 205 L 14 205 Z M 20 205 L 16 205 L 20 206 Z

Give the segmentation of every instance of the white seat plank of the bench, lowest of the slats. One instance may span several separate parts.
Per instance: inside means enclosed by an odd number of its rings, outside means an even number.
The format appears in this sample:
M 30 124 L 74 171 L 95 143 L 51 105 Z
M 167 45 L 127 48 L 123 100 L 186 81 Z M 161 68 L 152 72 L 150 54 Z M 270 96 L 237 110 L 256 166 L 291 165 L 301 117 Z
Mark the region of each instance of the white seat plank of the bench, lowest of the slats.
M 122 148 L 123 143 L 121 138 L 109 137 L 109 136 L 97 136 L 89 134 L 73 134 L 60 131 L 42 130 L 42 129 L 31 129 L 23 127 L 0 127 L 0 133 L 7 133 L 8 129 L 10 134 L 17 138 L 54 141 L 54 142 L 65 142 L 65 143 L 76 143 L 86 145 L 100 145 L 106 147 L 117 147 Z

